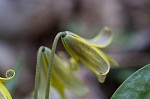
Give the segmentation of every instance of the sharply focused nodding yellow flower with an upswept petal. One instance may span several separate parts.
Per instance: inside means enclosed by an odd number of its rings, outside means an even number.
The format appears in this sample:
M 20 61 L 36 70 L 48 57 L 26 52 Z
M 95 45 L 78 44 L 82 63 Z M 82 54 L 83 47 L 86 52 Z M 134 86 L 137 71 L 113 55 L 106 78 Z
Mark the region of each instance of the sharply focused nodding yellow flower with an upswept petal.
M 97 75 L 99 82 L 103 83 L 110 70 L 110 63 L 117 65 L 115 60 L 99 49 L 107 47 L 111 43 L 112 32 L 110 29 L 104 28 L 93 39 L 84 39 L 72 32 L 65 32 L 66 35 L 62 36 L 62 42 L 67 51 L 77 62 L 85 64 Z

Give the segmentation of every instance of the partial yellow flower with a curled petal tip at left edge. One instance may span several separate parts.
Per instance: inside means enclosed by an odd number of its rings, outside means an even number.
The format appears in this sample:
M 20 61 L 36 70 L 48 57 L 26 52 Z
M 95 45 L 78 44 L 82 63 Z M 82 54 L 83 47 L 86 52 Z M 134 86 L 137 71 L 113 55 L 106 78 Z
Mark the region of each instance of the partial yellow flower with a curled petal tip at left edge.
M 12 97 L 11 97 L 9 91 L 7 90 L 7 88 L 4 86 L 3 82 L 7 82 L 7 81 L 11 80 L 14 76 L 15 76 L 15 71 L 12 69 L 9 69 L 6 71 L 6 78 L 0 77 L 0 93 L 3 95 L 2 97 L 4 99 L 12 99 Z M 0 99 L 2 97 L 0 96 Z

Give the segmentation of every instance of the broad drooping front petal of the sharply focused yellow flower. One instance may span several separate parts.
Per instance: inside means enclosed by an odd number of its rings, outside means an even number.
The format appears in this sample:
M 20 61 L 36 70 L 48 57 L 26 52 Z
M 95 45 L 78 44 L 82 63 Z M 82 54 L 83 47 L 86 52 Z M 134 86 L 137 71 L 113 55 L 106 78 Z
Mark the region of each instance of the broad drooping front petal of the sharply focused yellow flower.
M 110 64 L 107 56 L 101 50 L 70 32 L 67 32 L 67 35 L 62 37 L 62 41 L 74 59 L 85 64 L 98 76 L 100 82 L 104 82 L 110 70 Z

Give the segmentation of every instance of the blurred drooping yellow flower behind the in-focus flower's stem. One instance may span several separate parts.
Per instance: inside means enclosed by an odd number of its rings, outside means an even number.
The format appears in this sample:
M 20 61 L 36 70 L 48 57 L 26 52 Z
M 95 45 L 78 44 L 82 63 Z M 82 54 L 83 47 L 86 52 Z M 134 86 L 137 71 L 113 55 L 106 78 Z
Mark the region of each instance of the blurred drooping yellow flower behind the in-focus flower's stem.
M 47 47 L 40 47 L 38 51 L 38 62 L 41 65 L 40 71 L 40 92 L 38 99 L 44 99 L 46 76 L 50 63 L 51 50 Z M 62 99 L 65 99 L 64 90 L 68 89 L 77 95 L 85 95 L 88 92 L 87 87 L 80 82 L 70 68 L 70 63 L 64 62 L 59 56 L 54 56 L 54 66 L 52 70 L 51 85 L 59 92 Z

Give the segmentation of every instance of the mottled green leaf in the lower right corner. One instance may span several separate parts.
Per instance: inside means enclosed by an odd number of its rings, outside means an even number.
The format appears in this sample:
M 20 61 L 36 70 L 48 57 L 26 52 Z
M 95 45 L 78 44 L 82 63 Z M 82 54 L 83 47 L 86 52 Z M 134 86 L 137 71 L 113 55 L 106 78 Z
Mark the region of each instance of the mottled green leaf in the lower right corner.
M 128 77 L 111 99 L 150 99 L 150 64 Z

